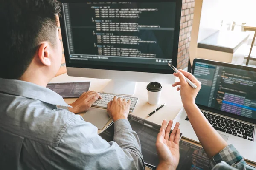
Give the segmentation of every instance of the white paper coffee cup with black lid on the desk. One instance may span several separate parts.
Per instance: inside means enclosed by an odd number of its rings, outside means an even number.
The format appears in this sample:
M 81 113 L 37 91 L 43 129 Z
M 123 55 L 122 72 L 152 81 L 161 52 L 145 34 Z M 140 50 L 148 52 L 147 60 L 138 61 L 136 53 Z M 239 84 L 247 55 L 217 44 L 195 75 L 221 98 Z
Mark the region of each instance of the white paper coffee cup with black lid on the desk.
M 147 86 L 148 103 L 151 105 L 158 105 L 161 99 L 162 86 L 158 82 L 151 82 Z

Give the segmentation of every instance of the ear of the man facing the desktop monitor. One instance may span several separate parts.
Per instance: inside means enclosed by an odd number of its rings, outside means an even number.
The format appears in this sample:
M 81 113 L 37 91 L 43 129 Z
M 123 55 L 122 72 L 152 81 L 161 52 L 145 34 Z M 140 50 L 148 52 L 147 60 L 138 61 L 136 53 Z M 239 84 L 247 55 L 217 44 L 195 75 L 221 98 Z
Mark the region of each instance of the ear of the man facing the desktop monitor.
M 38 49 L 38 59 L 43 65 L 50 66 L 51 60 L 50 60 L 50 45 L 48 42 L 44 42 L 41 45 L 39 45 Z

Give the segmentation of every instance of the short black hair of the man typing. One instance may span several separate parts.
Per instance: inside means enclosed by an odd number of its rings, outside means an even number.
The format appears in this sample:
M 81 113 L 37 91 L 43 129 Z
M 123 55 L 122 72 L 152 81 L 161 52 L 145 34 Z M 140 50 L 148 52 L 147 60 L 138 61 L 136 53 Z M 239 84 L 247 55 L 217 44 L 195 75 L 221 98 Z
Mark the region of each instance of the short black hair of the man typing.
M 29 67 L 40 42 L 56 44 L 55 0 L 0 1 L 0 77 L 20 79 Z

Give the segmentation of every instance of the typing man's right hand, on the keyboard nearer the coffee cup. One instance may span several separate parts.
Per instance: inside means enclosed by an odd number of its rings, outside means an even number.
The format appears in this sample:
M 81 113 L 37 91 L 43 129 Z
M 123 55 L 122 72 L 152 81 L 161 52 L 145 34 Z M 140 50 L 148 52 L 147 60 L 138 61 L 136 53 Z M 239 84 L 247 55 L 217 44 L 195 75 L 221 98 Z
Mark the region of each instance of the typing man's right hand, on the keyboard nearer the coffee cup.
M 126 99 L 119 98 L 115 96 L 113 101 L 108 103 L 108 115 L 113 119 L 114 122 L 119 119 L 127 119 L 129 114 L 129 109 L 131 105 L 131 100 L 126 101 Z

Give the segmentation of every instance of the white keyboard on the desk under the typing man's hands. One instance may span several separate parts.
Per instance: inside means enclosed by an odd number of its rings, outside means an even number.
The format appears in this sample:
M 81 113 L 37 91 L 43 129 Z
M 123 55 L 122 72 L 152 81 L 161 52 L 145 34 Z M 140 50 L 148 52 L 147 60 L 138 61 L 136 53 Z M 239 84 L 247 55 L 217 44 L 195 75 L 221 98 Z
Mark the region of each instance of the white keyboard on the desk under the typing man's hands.
M 134 108 L 138 102 L 138 98 L 136 97 L 128 97 L 128 96 L 119 96 L 116 94 L 105 94 L 105 93 L 99 93 L 100 96 L 102 96 L 102 99 L 98 99 L 96 100 L 96 102 L 93 103 L 92 107 L 96 107 L 96 108 L 104 108 L 106 109 L 108 107 L 108 103 L 113 100 L 114 96 L 116 97 L 121 97 L 123 99 L 131 100 L 131 106 L 130 106 L 130 113 L 132 113 L 134 111 Z

